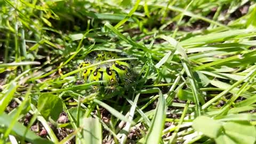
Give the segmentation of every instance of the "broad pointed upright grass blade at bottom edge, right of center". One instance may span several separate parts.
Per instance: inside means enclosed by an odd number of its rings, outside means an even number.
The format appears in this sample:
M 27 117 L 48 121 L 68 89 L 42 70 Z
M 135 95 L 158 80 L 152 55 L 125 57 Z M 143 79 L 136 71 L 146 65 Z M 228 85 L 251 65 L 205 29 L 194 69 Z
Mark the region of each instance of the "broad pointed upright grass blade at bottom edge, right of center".
M 151 122 L 148 134 L 146 136 L 146 143 L 159 143 L 162 137 L 163 126 L 166 116 L 165 99 L 161 90 L 159 90 L 159 101 L 156 106 L 155 115 Z

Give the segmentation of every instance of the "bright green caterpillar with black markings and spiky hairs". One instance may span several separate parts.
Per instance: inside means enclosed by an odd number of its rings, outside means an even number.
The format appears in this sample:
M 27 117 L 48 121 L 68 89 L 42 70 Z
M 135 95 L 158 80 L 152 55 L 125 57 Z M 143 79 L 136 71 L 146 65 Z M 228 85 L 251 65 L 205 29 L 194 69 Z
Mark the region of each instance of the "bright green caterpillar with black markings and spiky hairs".
M 93 51 L 88 54 L 86 60 L 78 67 L 82 68 L 100 61 L 118 58 L 127 58 L 127 55 L 113 51 Z M 103 88 L 111 91 L 129 87 L 130 84 L 134 82 L 134 74 L 130 61 L 105 63 L 103 65 L 87 68 L 81 72 L 81 76 L 86 83 L 103 81 L 99 85 L 94 85 L 93 90 Z

